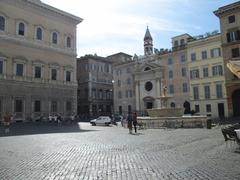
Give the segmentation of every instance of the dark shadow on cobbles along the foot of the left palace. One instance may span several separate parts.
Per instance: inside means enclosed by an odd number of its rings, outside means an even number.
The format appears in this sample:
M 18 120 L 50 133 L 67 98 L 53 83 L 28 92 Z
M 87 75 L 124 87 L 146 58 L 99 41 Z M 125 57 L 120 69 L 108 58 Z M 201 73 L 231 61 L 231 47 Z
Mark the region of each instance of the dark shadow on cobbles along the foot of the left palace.
M 81 129 L 78 123 L 63 124 L 59 126 L 58 124 L 49 122 L 26 122 L 11 124 L 10 132 L 5 133 L 3 124 L 0 125 L 0 137 L 49 133 L 82 133 L 88 131 L 95 130 Z

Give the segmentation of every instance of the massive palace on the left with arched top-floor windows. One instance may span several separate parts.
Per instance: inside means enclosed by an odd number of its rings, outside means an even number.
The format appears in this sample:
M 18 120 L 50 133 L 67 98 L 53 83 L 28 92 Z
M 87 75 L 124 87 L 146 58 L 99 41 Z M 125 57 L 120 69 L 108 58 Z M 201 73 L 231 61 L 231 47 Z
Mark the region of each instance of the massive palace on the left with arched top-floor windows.
M 0 114 L 14 120 L 76 112 L 76 26 L 40 0 L 0 1 Z

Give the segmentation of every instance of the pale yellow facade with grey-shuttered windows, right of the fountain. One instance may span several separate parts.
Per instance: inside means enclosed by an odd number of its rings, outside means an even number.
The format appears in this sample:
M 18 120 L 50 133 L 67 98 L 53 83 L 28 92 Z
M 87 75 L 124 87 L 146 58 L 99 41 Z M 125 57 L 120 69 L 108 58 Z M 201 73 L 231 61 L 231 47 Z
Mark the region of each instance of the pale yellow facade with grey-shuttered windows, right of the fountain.
M 191 39 L 187 58 L 192 109 L 212 118 L 228 117 L 221 34 Z

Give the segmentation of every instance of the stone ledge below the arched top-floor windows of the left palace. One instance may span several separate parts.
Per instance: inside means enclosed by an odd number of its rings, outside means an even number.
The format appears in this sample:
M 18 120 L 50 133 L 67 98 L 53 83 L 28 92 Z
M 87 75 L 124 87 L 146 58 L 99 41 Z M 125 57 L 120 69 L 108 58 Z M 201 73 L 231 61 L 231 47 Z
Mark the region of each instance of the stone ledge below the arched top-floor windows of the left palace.
M 52 46 L 41 44 L 38 42 L 29 41 L 24 38 L 16 38 L 16 37 L 7 36 L 7 35 L 0 35 L 0 40 L 15 43 L 15 44 L 21 43 L 21 45 L 24 45 L 25 47 L 42 49 L 42 50 L 47 50 L 47 51 L 54 51 L 54 52 L 57 52 L 57 53 L 60 53 L 63 55 L 72 56 L 74 58 L 77 57 L 77 54 L 75 52 L 69 52 L 62 48 L 52 47 Z

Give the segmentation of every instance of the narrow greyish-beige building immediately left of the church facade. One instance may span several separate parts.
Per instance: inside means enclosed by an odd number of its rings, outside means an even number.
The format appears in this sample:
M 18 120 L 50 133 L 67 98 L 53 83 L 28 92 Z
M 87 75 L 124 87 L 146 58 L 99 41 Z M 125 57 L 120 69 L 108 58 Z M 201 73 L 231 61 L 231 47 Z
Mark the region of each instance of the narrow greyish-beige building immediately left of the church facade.
M 117 53 L 107 57 L 113 68 L 114 114 L 126 115 L 136 110 L 134 89 L 135 62 L 131 55 Z

